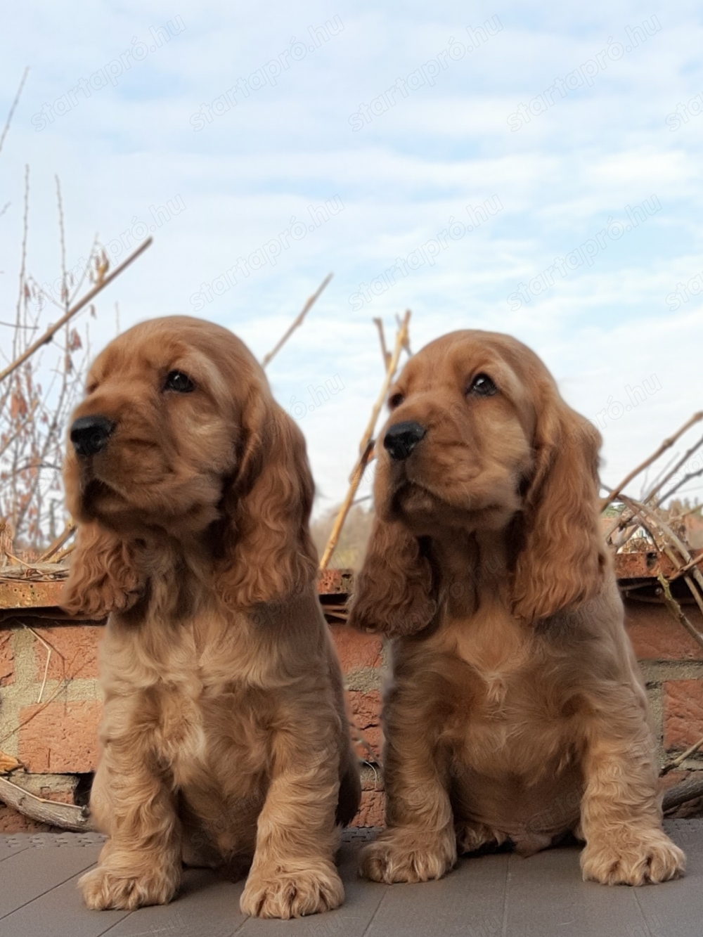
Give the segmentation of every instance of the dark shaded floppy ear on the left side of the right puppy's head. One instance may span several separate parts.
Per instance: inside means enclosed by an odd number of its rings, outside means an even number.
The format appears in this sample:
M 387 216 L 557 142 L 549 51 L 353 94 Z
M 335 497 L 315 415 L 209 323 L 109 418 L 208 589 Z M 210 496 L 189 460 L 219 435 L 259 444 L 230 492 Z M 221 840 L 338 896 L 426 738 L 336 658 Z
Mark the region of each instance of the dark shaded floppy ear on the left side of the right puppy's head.
M 352 627 L 389 638 L 420 632 L 437 612 L 436 591 L 423 543 L 402 524 L 377 517 L 356 577 Z

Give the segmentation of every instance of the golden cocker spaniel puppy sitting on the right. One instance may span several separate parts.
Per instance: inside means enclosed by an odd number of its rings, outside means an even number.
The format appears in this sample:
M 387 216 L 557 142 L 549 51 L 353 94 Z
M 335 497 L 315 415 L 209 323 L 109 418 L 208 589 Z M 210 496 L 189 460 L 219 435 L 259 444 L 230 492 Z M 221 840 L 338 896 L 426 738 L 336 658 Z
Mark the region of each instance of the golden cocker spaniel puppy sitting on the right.
M 387 829 L 362 872 L 569 832 L 586 879 L 674 878 L 647 697 L 598 521 L 598 447 L 506 335 L 432 342 L 391 388 L 352 624 L 394 638 Z

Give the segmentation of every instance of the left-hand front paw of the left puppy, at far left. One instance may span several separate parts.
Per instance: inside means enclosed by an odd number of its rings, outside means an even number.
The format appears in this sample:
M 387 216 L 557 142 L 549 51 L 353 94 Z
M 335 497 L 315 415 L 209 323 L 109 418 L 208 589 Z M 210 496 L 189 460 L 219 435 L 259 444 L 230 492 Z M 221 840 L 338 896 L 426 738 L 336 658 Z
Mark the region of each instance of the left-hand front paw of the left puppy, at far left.
M 124 908 L 134 911 L 146 904 L 168 904 L 180 883 L 180 870 L 172 874 L 126 876 L 109 866 L 98 866 L 78 881 L 83 900 L 93 911 Z

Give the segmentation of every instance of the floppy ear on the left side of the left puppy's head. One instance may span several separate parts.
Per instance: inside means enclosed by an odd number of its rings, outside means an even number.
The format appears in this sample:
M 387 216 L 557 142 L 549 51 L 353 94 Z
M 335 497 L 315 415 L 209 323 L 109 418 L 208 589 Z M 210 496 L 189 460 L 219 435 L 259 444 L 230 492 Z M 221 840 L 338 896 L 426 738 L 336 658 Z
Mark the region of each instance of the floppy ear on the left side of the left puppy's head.
M 144 585 L 129 545 L 96 523 L 82 524 L 76 538 L 61 607 L 96 620 L 127 611 Z

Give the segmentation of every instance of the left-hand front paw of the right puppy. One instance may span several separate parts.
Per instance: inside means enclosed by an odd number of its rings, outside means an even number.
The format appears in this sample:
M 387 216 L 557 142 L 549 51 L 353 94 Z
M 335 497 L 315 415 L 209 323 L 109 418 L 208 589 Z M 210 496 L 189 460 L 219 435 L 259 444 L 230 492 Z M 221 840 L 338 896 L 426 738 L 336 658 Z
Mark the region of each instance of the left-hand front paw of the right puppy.
M 427 882 L 456 862 L 454 830 L 428 837 L 415 830 L 390 829 L 361 855 L 361 874 L 373 882 Z

